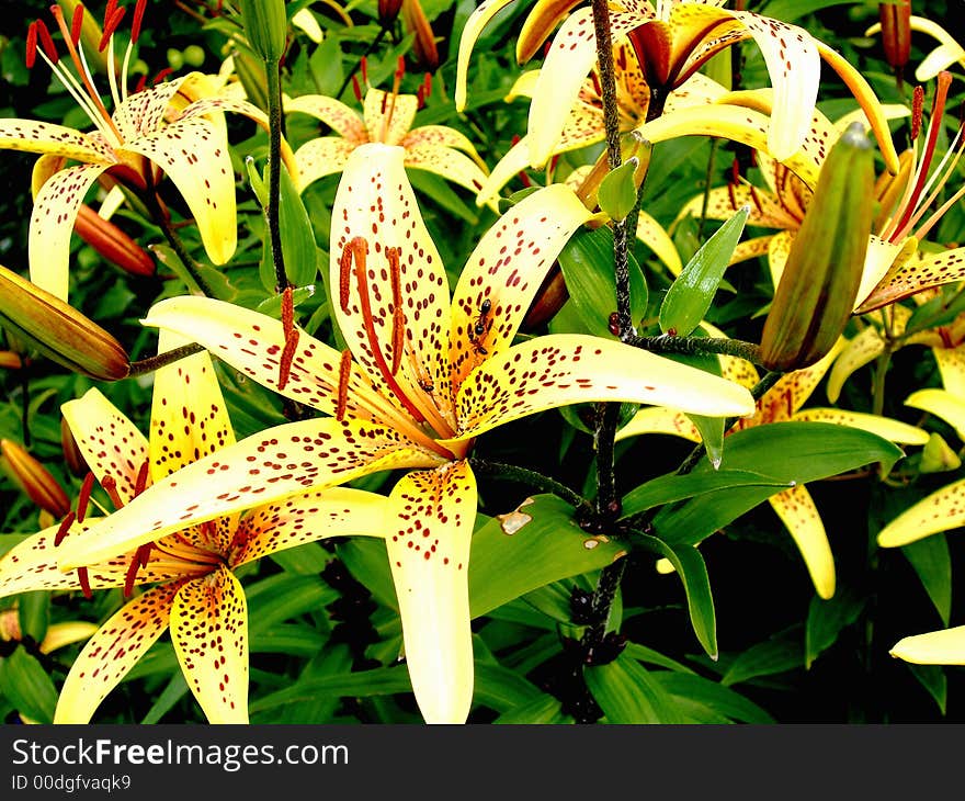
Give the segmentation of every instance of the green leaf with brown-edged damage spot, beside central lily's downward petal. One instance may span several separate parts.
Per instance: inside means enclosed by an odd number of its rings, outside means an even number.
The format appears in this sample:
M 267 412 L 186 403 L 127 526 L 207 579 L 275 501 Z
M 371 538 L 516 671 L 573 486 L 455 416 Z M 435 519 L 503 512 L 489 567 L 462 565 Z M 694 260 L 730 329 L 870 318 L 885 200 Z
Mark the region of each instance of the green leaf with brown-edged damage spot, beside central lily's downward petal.
M 572 507 L 556 496 L 536 495 L 531 500 L 473 534 L 474 618 L 552 582 L 600 569 L 624 553 L 622 545 L 591 537 L 577 526 Z

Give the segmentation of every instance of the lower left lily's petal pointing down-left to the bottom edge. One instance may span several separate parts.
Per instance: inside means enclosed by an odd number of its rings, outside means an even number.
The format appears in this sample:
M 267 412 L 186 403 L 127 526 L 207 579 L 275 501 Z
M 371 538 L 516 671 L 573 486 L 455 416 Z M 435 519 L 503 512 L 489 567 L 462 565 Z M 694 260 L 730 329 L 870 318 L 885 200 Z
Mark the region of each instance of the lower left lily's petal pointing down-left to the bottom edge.
M 70 668 L 55 723 L 88 723 L 107 693 L 168 628 L 179 584 L 149 589 L 115 612 L 87 644 Z

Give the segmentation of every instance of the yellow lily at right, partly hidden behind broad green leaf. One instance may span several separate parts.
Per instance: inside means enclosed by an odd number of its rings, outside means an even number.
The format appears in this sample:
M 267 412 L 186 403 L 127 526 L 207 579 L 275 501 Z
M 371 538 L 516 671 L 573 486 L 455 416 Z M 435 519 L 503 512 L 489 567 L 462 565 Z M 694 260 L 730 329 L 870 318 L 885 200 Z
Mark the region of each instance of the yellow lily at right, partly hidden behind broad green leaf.
M 820 361 L 804 370 L 796 370 L 782 376 L 757 403 L 752 417 L 738 420 L 731 431 L 751 426 L 765 426 L 771 422 L 835 422 L 840 426 L 860 428 L 893 442 L 924 444 L 928 433 L 899 420 L 859 411 L 836 408 L 807 408 L 802 406 L 820 383 L 831 362 L 837 357 L 843 340 Z M 753 386 L 759 375 L 749 362 L 736 357 L 720 357 L 722 375 L 745 386 Z M 686 415 L 674 408 L 652 407 L 640 409 L 616 435 L 617 440 L 637 437 L 643 433 L 668 433 L 700 442 L 696 426 Z M 781 518 L 784 527 L 794 539 L 815 590 L 821 598 L 835 595 L 835 560 L 828 535 L 818 509 L 810 494 L 803 485 L 784 489 L 769 499 L 771 507 Z

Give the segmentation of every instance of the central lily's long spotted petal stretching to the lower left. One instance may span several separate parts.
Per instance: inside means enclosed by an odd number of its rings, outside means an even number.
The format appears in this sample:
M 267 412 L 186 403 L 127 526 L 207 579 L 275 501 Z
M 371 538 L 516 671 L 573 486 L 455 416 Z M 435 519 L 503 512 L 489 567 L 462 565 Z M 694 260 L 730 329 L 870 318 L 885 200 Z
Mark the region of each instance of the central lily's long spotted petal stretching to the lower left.
M 92 526 L 82 541 L 68 539 L 60 546 L 60 567 L 96 562 L 191 523 L 287 495 L 442 461 L 395 429 L 351 418 L 276 426 L 172 473 Z

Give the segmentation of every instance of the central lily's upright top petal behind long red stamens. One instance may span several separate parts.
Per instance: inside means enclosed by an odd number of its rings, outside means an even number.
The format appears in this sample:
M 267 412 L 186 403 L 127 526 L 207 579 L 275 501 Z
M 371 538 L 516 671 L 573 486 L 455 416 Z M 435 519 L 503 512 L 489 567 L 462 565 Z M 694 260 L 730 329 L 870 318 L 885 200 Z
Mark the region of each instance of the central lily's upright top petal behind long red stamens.
M 442 387 L 449 377 L 449 281 L 406 176 L 405 154 L 368 144 L 349 157 L 332 208 L 329 272 L 332 294 L 342 289 L 334 316 L 349 348 L 376 391 L 400 407 L 402 397 L 424 395 L 420 383 Z M 343 275 L 342 252 L 359 237 L 366 242 L 367 270 L 349 266 Z M 389 248 L 398 252 L 395 278 Z

